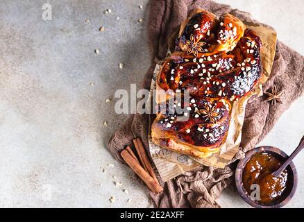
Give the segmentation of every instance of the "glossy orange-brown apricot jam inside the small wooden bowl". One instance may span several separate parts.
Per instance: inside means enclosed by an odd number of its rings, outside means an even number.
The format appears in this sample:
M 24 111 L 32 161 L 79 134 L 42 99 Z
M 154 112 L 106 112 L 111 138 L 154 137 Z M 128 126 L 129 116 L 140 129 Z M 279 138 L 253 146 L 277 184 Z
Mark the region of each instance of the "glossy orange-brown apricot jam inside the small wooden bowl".
M 281 160 L 266 152 L 255 153 L 247 162 L 242 176 L 244 188 L 248 194 L 253 192 L 252 185 L 260 188 L 260 195 L 256 196 L 258 203 L 273 205 L 284 196 L 288 182 L 287 170 L 282 171 L 277 178 L 271 175 L 281 164 Z

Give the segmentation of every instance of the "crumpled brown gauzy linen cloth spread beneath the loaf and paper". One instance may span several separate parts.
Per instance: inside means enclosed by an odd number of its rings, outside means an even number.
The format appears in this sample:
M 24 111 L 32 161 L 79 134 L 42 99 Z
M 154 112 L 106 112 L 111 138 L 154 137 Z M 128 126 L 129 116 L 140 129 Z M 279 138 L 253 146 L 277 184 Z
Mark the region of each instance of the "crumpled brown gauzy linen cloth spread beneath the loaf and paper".
M 155 61 L 162 60 L 167 53 L 167 40 L 178 30 L 189 12 L 195 8 L 204 8 L 215 15 L 229 12 L 246 22 L 258 23 L 247 12 L 230 8 L 230 6 L 199 0 L 151 0 L 149 3 L 149 44 L 152 52 L 152 64 L 146 72 L 144 87 L 149 89 Z M 263 96 L 253 96 L 246 106 L 242 142 L 233 163 L 224 169 L 213 167 L 197 167 L 183 175 L 162 183 L 162 194 L 151 193 L 155 207 L 219 207 L 215 201 L 221 191 L 231 185 L 235 169 L 235 160 L 244 156 L 244 152 L 253 148 L 273 128 L 281 114 L 289 108 L 304 89 L 304 57 L 296 51 L 278 42 L 276 57 L 273 62 L 271 76 L 264 84 L 264 92 L 273 85 L 278 90 L 284 90 L 283 104 L 271 106 L 264 102 Z M 148 148 L 149 116 L 147 114 L 131 115 L 124 126 L 112 136 L 108 144 L 110 152 L 121 161 L 119 151 L 131 143 L 133 137 L 142 137 Z M 296 130 L 296 129 L 294 129 Z

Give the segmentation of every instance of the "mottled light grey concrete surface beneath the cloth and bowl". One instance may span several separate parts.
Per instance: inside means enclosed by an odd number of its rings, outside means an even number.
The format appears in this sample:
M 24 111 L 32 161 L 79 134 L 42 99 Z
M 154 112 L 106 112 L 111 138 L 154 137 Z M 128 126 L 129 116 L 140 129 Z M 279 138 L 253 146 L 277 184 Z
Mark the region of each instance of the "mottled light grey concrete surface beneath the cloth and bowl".
M 303 1 L 219 2 L 252 12 L 304 54 Z M 44 3 L 51 21 L 42 19 Z M 146 187 L 105 149 L 126 119 L 114 112 L 115 90 L 139 84 L 149 67 L 146 3 L 0 1 L 0 207 L 151 207 Z M 304 134 L 303 108 L 302 97 L 261 144 L 291 153 Z M 300 180 L 287 207 L 304 207 L 303 157 L 294 161 Z M 219 203 L 248 207 L 230 189 Z

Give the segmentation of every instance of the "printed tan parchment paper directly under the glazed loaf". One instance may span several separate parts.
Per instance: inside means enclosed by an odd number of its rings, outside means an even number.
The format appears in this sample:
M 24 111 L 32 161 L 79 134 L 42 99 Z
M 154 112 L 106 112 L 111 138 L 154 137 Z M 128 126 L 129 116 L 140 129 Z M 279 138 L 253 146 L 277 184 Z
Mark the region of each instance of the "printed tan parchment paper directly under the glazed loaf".
M 151 157 L 153 159 L 155 167 L 160 173 L 160 177 L 164 182 L 171 180 L 181 173 L 189 171 L 194 167 L 199 166 L 200 164 L 208 167 L 223 168 L 230 162 L 230 160 L 233 159 L 235 153 L 237 153 L 242 138 L 242 127 L 244 123 L 244 114 L 247 101 L 251 98 L 251 96 L 255 94 L 258 96 L 261 96 L 263 94 L 262 84 L 266 82 L 266 80 L 269 78 L 269 75 L 271 74 L 271 67 L 273 64 L 274 55 L 276 53 L 276 31 L 274 31 L 273 28 L 259 24 L 248 24 L 246 22 L 244 22 L 244 24 L 246 25 L 246 28 L 251 28 L 253 31 L 255 31 L 262 40 L 261 57 L 263 74 L 260 78 L 259 83 L 250 94 L 242 97 L 239 99 L 239 101 L 233 102 L 230 112 L 228 136 L 226 137 L 226 140 L 223 141 L 219 153 L 214 153 L 210 157 L 199 159 L 169 151 L 165 148 L 153 144 L 151 142 L 151 132 L 149 132 L 149 148 Z M 155 66 L 153 78 L 151 80 L 150 96 L 153 95 L 153 89 L 156 89 L 156 78 L 158 76 L 160 68 L 160 65 Z M 149 98 L 149 100 L 151 100 L 151 98 Z M 153 119 L 150 119 L 150 130 L 152 122 Z

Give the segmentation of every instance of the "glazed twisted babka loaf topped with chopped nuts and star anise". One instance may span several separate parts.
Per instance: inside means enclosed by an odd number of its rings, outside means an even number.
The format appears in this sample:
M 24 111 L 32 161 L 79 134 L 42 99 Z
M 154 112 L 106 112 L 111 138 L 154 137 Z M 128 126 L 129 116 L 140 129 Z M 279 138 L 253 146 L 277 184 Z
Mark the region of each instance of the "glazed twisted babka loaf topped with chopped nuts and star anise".
M 154 144 L 194 157 L 217 153 L 228 133 L 231 103 L 250 92 L 262 74 L 262 42 L 242 21 L 196 10 L 180 27 L 174 53 L 162 65 L 157 87 L 168 103 L 175 92 L 190 94 L 189 119 L 162 105 L 152 124 Z M 179 104 L 180 105 L 180 104 Z M 174 105 L 176 108 L 176 105 Z

